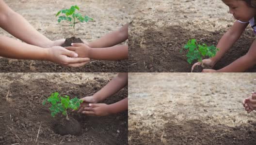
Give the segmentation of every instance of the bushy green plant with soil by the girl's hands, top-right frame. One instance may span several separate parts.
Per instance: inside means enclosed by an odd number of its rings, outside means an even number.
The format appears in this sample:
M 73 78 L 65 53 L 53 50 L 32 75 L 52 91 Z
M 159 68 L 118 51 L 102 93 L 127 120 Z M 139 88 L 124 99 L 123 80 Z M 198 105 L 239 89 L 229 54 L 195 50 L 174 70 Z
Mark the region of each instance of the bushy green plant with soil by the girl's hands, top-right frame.
M 188 58 L 187 61 L 189 64 L 191 64 L 194 60 L 201 62 L 201 65 L 195 66 L 193 73 L 201 73 L 203 69 L 210 68 L 209 66 L 203 64 L 203 58 L 212 58 L 216 55 L 217 51 L 219 51 L 219 49 L 214 45 L 208 46 L 205 43 L 199 44 L 195 39 L 189 40 L 184 46 L 184 49 L 188 50 L 186 57 Z M 180 52 L 182 51 L 183 48 L 180 50 Z

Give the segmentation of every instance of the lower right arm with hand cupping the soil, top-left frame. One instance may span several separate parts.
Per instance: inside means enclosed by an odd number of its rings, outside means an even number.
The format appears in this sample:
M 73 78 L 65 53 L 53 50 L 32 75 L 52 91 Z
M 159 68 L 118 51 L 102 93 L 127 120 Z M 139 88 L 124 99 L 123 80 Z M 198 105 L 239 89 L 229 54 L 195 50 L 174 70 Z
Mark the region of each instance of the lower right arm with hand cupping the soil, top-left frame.
M 127 45 L 115 45 L 106 48 L 91 48 L 83 43 L 72 43 L 71 47 L 66 49 L 71 50 L 79 54 L 81 58 L 91 58 L 96 60 L 122 60 L 128 59 L 128 46 Z

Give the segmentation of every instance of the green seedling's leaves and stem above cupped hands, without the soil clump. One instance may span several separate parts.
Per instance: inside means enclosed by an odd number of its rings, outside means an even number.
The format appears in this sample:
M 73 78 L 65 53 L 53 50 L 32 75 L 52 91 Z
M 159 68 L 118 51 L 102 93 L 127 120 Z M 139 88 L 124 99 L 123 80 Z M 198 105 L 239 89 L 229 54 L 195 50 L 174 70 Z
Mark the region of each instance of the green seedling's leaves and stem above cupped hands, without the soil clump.
M 76 24 L 78 23 L 83 23 L 83 22 L 89 22 L 92 21 L 93 18 L 90 18 L 89 16 L 85 15 L 82 16 L 82 14 L 76 12 L 76 10 L 80 10 L 80 8 L 77 5 L 71 6 L 70 9 L 64 9 L 64 10 L 60 10 L 56 16 L 59 16 L 60 14 L 62 14 L 62 16 L 58 17 L 58 22 L 60 23 L 61 21 L 67 21 L 68 23 L 70 23 L 69 26 L 73 27 L 73 32 L 75 35 L 75 27 Z

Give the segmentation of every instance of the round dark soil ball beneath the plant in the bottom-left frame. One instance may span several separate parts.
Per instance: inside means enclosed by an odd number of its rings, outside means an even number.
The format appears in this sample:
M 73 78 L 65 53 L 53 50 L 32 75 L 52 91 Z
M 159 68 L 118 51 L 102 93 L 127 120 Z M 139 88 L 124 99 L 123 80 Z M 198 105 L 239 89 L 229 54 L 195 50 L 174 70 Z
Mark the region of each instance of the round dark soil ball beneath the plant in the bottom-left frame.
M 81 125 L 72 117 L 69 117 L 69 120 L 62 118 L 54 125 L 54 132 L 60 135 L 79 135 L 81 133 Z

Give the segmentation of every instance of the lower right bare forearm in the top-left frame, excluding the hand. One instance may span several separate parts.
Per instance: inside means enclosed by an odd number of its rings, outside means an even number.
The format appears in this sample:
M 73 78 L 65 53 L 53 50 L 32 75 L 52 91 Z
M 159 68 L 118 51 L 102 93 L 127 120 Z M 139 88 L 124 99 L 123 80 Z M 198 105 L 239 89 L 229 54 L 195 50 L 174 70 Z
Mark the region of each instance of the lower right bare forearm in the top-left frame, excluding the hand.
M 128 59 L 128 46 L 116 45 L 107 48 L 91 48 L 89 58 L 97 60 L 122 60 Z

